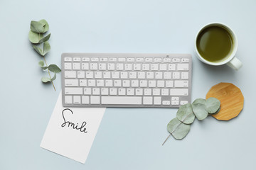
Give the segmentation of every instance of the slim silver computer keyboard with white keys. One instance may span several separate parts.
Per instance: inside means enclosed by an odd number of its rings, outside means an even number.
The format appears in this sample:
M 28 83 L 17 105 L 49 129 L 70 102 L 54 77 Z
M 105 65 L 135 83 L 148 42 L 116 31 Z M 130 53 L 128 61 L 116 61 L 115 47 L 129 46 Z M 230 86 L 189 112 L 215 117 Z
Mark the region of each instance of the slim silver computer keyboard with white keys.
M 63 53 L 63 106 L 178 108 L 191 102 L 191 55 Z

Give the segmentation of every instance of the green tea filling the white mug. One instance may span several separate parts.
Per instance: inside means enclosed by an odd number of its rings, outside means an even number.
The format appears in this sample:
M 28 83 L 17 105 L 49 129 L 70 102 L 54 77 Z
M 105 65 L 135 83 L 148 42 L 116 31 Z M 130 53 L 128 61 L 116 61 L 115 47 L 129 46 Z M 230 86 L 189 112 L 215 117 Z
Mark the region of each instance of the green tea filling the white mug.
M 225 28 L 209 26 L 198 34 L 196 47 L 208 62 L 222 62 L 233 50 L 233 38 Z

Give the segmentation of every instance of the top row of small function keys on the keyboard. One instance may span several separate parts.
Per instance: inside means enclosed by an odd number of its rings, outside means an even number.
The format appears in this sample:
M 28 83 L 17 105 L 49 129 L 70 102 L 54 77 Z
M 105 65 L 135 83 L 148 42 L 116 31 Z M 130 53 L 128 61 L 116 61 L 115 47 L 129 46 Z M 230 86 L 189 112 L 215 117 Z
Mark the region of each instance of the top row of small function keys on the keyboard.
M 119 58 L 107 58 L 107 57 L 64 57 L 65 62 L 189 62 L 188 58 L 162 58 L 162 57 L 151 57 L 151 58 L 143 58 L 143 57 L 119 57 Z

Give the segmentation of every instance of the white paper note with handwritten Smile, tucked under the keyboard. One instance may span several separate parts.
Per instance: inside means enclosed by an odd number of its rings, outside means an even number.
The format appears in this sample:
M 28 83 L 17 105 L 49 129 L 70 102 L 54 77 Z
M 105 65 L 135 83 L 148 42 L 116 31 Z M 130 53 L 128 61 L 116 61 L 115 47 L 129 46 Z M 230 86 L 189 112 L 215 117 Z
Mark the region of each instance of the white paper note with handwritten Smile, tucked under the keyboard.
M 85 164 L 105 108 L 64 108 L 58 97 L 40 147 Z

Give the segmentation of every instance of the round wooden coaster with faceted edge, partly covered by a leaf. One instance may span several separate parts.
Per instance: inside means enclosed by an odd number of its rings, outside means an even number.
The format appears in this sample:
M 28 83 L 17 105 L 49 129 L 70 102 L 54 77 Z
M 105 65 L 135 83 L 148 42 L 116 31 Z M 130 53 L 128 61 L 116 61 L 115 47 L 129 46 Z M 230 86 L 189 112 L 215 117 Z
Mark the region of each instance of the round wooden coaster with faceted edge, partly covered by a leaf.
M 220 83 L 212 86 L 206 94 L 206 99 L 210 97 L 218 98 L 220 101 L 220 111 L 213 115 L 218 120 L 230 120 L 242 111 L 244 97 L 234 84 Z

